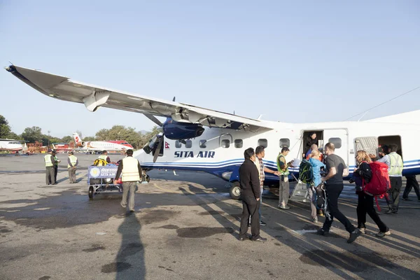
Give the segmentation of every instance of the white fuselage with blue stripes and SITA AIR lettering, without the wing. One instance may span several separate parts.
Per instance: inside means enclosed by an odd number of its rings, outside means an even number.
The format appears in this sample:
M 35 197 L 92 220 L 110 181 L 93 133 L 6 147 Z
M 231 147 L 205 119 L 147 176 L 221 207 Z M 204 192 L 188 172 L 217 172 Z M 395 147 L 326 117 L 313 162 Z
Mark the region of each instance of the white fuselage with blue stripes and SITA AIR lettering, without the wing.
M 153 152 L 147 154 L 139 150 L 134 157 L 144 169 L 209 172 L 232 181 L 230 176 L 244 161 L 246 148 L 266 146 L 265 166 L 276 170 L 276 158 L 283 146 L 290 149 L 287 161 L 294 158 L 301 160 L 309 132 L 316 132 L 318 146 L 322 148 L 332 141 L 336 147 L 335 154 L 343 158 L 350 173 L 356 167 L 356 151 L 366 150 L 376 155 L 378 146 L 397 144 L 405 165 L 403 174 L 420 174 L 420 151 L 416 148 L 420 132 L 418 125 L 369 122 L 277 124 L 274 130 L 262 129 L 259 132 L 207 127 L 200 137 L 186 140 L 186 144 L 165 137 L 162 153 L 156 162 L 153 162 Z M 298 170 L 299 167 L 290 168 L 291 172 Z M 267 184 L 278 180 L 278 176 L 266 174 Z

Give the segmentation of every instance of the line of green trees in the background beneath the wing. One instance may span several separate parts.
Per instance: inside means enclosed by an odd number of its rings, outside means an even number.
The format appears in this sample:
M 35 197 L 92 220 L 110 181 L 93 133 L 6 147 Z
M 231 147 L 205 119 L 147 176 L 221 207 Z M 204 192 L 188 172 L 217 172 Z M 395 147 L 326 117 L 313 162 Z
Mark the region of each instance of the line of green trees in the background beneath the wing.
M 133 127 L 125 127 L 124 125 L 114 125 L 109 130 L 99 130 L 94 137 L 83 137 L 83 133 L 77 131 L 83 141 L 111 141 L 111 140 L 125 140 L 133 146 L 134 149 L 143 147 L 155 134 L 161 132 L 162 129 L 158 126 L 153 127 L 150 132 L 136 131 Z M 49 133 L 48 133 L 49 134 Z M 49 146 L 52 143 L 71 143 L 73 137 L 67 135 L 65 137 L 51 137 L 50 135 L 43 134 L 41 127 L 27 127 L 22 134 L 12 132 L 10 125 L 6 118 L 0 115 L 0 139 L 16 139 L 25 140 L 29 143 L 36 141 Z

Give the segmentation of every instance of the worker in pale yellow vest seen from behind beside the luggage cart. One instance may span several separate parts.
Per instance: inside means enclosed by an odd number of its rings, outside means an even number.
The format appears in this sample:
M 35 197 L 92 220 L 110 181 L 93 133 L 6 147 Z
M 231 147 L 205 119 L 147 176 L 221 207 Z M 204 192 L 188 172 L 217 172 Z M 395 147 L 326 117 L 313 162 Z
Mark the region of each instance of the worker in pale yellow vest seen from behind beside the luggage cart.
M 116 174 L 116 179 L 114 184 L 120 178 L 120 175 L 123 174 L 123 200 L 121 200 L 121 206 L 127 207 L 127 195 L 130 190 L 130 201 L 128 202 L 128 209 L 131 212 L 134 211 L 134 193 L 136 192 L 137 182 L 141 181 L 141 166 L 139 160 L 133 158 L 133 150 L 127 150 L 127 157 L 124 158 L 120 165 L 118 165 L 118 170 Z

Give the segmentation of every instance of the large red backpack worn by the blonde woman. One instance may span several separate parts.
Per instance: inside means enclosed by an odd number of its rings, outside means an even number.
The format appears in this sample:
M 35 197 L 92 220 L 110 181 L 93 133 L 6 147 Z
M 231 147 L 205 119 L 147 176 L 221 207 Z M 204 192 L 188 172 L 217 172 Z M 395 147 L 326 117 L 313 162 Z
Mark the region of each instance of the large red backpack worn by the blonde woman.
M 363 191 L 367 195 L 372 195 L 377 201 L 377 207 L 379 204 L 377 197 L 382 198 L 386 195 L 386 192 L 391 188 L 391 182 L 389 181 L 388 165 L 384 162 L 370 162 L 370 169 L 372 169 L 372 179 L 369 183 L 364 184 Z

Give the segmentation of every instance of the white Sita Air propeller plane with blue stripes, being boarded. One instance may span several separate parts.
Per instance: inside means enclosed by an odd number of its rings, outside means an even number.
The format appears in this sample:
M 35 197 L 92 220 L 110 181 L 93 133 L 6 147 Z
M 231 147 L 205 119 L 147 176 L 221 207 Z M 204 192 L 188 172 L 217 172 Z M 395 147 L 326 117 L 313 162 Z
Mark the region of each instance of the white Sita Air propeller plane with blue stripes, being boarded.
M 230 195 L 240 194 L 238 168 L 244 161 L 244 150 L 265 146 L 265 165 L 276 170 L 281 148 L 290 148 L 287 160 L 302 159 L 306 139 L 316 132 L 318 146 L 335 144 L 352 174 L 355 153 L 365 150 L 377 155 L 378 147 L 397 144 L 405 169 L 403 174 L 420 174 L 420 111 L 412 111 L 365 121 L 332 123 L 280 123 L 244 118 L 197 106 L 144 97 L 106 87 L 88 85 L 41 71 L 9 66 L 7 71 L 55 99 L 85 104 L 89 111 L 100 106 L 135 113 L 162 126 L 158 134 L 134 157 L 146 170 L 178 169 L 209 172 L 231 183 Z M 161 123 L 155 116 L 166 117 Z M 298 172 L 298 167 L 291 169 Z M 266 174 L 265 184 L 278 183 L 279 177 Z

